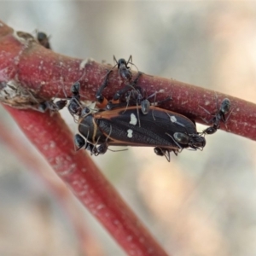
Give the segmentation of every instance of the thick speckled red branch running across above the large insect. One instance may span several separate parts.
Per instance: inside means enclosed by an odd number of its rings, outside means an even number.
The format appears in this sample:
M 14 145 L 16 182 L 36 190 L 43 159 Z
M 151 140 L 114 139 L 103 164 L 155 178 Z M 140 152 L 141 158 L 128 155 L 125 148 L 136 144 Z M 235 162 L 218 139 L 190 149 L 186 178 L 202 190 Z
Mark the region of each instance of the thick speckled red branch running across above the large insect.
M 96 89 L 102 84 L 107 69 L 112 68 L 90 59 L 79 60 L 56 54 L 39 45 L 29 34 L 13 32 L 4 24 L 0 27 L 0 37 L 2 88 L 10 81 L 18 86 L 20 84 L 22 89 L 29 90 L 30 97 L 27 96 L 27 99 L 30 105 L 32 102 L 35 104 L 32 96 L 38 102 L 55 96 L 65 97 L 65 94 L 70 96 L 70 87 L 78 80 L 84 99 L 94 101 Z M 123 85 L 115 69 L 109 79 L 108 88 L 104 90 L 104 96 L 110 99 Z M 138 85 L 143 87 L 148 95 L 160 91 L 158 100 L 172 96 L 172 102 L 166 102 L 162 108 L 182 113 L 201 124 L 209 125 L 204 120 L 212 118 L 203 108 L 210 113 L 216 112 L 215 92 L 212 90 L 146 74 L 139 79 Z M 227 123 L 228 131 L 256 140 L 256 105 L 222 93 L 217 95 L 219 102 L 225 97 L 231 102 L 232 113 Z M 1 94 L 0 100 L 4 102 Z M 10 102 L 10 105 L 15 106 L 13 102 Z M 22 108 L 22 104 L 16 104 L 16 107 Z M 226 130 L 224 124 L 221 124 L 221 129 Z

